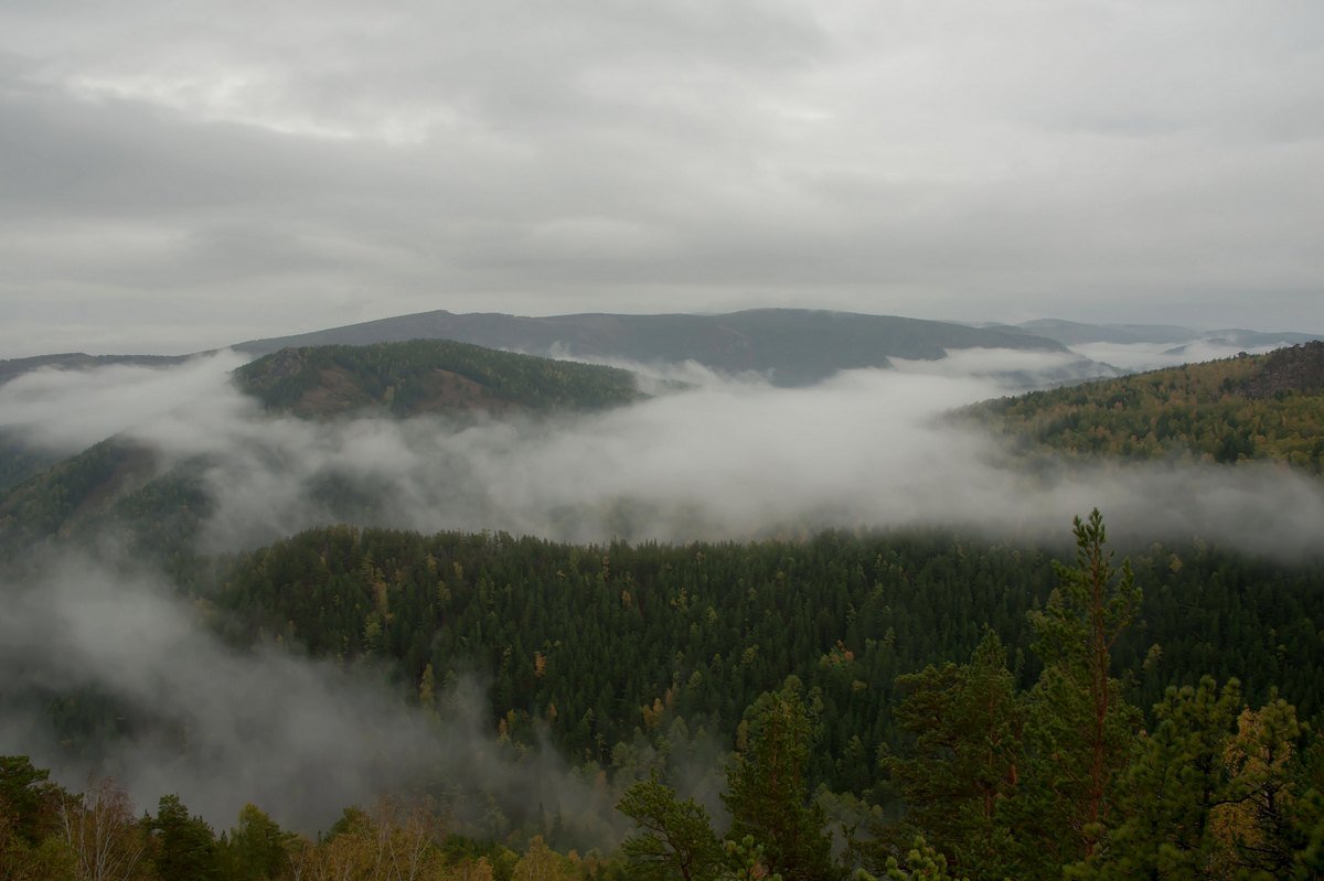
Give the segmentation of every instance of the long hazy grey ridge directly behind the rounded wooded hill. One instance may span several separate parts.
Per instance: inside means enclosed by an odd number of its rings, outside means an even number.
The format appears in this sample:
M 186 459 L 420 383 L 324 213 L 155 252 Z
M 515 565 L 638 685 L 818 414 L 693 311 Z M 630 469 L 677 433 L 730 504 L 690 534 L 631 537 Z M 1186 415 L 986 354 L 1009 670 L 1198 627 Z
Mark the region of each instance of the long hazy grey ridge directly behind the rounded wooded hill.
M 690 360 L 726 373 L 768 373 L 775 382 L 786 386 L 809 385 L 853 368 L 888 366 L 894 357 L 940 358 L 948 349 L 1064 351 L 1061 343 L 1023 331 L 817 310 L 551 317 L 438 311 L 252 340 L 234 348 L 266 355 L 289 347 L 364 345 L 413 339 L 449 339 L 519 352 L 556 352 L 643 364 Z

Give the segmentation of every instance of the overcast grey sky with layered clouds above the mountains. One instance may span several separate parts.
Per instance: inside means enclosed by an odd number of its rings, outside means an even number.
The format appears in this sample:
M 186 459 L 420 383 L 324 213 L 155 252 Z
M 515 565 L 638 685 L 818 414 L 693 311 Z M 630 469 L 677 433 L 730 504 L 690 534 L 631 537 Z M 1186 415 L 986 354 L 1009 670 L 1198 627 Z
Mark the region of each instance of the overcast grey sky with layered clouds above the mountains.
M 1319 0 L 4 0 L 0 357 L 445 308 L 1324 332 Z

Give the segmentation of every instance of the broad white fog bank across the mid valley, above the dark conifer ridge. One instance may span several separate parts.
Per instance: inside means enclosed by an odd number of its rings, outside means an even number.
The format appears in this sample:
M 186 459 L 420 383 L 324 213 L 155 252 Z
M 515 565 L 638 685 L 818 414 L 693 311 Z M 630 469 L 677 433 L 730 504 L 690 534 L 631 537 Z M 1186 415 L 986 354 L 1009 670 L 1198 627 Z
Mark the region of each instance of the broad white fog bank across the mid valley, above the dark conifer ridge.
M 203 550 L 256 546 L 331 521 L 572 541 L 904 525 L 1041 538 L 1064 534 L 1072 516 L 1099 507 L 1115 532 L 1298 554 L 1313 548 L 1312 524 L 1324 520 L 1316 482 L 1267 464 L 1029 474 L 992 438 L 943 418 L 1026 376 L 1051 376 L 1072 356 L 965 351 L 805 389 L 694 364 L 647 368 L 645 385 L 658 394 L 629 407 L 463 422 L 267 414 L 225 380 L 229 357 L 164 372 L 66 373 L 28 388 L 57 389 L 62 409 L 75 411 L 97 410 L 110 388 L 119 413 L 146 414 L 124 437 L 166 462 L 201 462 L 214 503 Z M 663 381 L 677 378 L 688 386 L 667 392 Z M 60 413 L 33 434 L 73 444 L 91 425 Z

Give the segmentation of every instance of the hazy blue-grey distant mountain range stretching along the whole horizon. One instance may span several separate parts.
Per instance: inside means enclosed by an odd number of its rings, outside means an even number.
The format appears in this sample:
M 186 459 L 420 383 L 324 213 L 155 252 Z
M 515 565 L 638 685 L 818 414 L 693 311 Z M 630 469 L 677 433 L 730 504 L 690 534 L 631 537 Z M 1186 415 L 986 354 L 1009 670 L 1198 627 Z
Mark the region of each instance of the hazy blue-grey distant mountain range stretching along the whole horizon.
M 1197 331 L 1158 324 L 1080 324 L 1057 319 L 1022 324 L 957 324 L 824 310 L 749 310 L 728 315 L 556 315 L 527 317 L 448 311 L 401 315 L 232 347 L 254 357 L 285 348 L 454 340 L 563 360 L 679 364 L 722 373 L 755 372 L 782 386 L 812 385 L 839 370 L 887 368 L 892 358 L 935 360 L 949 351 L 998 348 L 1066 352 L 1091 343 L 1170 344 L 1169 353 L 1205 341 L 1237 348 L 1294 345 L 1324 339 L 1296 332 Z M 1207 357 L 1207 356 L 1206 356 Z M 184 356 L 44 355 L 0 361 L 0 384 L 42 366 L 169 365 Z M 1079 357 L 1039 382 L 1074 382 L 1123 370 Z M 1014 377 L 1012 377 L 1014 380 Z

